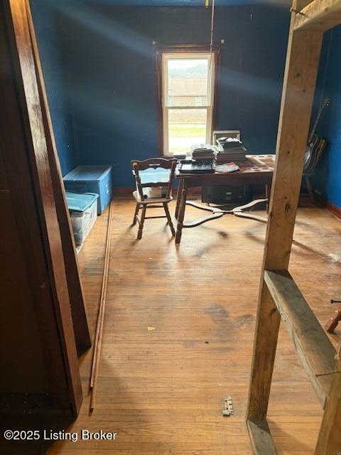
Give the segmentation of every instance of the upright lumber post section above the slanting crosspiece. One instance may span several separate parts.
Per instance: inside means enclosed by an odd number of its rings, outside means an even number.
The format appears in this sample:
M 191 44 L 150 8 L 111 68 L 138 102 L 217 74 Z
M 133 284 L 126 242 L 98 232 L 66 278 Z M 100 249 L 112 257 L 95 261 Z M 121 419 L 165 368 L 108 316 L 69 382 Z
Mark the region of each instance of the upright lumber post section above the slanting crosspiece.
M 323 33 L 291 31 L 271 188 L 265 269 L 287 269 Z M 281 245 L 281 247 L 278 247 Z

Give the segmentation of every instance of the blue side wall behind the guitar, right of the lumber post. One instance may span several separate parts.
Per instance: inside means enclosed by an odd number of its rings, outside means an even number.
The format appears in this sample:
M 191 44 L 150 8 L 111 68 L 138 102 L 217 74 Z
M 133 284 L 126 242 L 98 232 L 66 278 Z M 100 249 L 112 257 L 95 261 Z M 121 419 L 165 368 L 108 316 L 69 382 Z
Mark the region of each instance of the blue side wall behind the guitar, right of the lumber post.
M 328 140 L 318 166 L 315 186 L 321 195 L 341 208 L 341 26 L 325 33 L 315 104 L 330 97 L 318 133 Z

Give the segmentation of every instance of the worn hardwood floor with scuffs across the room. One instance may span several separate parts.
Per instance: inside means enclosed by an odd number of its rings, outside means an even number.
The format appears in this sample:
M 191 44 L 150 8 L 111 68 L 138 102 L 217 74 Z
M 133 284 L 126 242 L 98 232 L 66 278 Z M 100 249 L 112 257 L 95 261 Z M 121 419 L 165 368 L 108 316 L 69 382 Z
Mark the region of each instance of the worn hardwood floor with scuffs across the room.
M 249 455 L 244 414 L 265 225 L 227 215 L 183 230 L 177 247 L 165 220 L 146 220 L 136 240 L 133 214 L 133 200 L 114 201 L 97 402 L 89 416 L 85 398 L 67 429 L 102 429 L 117 439 L 60 441 L 48 454 Z M 186 215 L 202 213 L 188 208 Z M 106 226 L 107 211 L 79 255 L 92 333 Z M 341 296 L 340 233 L 326 210 L 299 210 L 290 272 L 322 323 L 330 299 Z M 341 341 L 341 327 L 331 338 Z M 85 395 L 91 358 L 89 351 L 81 359 Z M 222 417 L 227 395 L 232 417 Z M 269 408 L 278 455 L 312 454 L 321 414 L 281 328 Z

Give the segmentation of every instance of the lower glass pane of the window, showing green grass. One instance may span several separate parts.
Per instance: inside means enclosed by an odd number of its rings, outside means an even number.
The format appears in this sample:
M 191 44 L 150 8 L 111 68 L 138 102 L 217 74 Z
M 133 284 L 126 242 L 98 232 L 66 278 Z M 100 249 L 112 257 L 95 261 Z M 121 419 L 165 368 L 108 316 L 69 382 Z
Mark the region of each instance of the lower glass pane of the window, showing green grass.
M 206 144 L 207 109 L 168 110 L 168 151 L 180 154 Z

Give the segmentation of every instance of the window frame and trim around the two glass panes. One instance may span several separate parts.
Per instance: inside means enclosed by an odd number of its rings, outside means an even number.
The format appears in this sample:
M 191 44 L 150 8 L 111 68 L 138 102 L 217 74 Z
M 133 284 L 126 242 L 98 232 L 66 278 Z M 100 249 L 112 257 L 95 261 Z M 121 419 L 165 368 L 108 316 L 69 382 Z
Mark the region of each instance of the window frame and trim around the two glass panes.
M 167 75 L 167 62 L 168 60 L 176 58 L 177 60 L 197 60 L 200 58 L 209 58 L 210 59 L 210 77 L 208 83 L 210 84 L 209 90 L 207 92 L 210 95 L 210 105 L 202 106 L 167 106 L 166 97 L 168 93 L 168 77 Z M 163 155 L 173 156 L 168 150 L 168 111 L 170 109 L 207 109 L 207 127 L 206 127 L 206 144 L 210 144 L 212 138 L 212 122 L 213 122 L 213 108 L 215 103 L 215 54 L 210 52 L 199 52 L 191 50 L 190 52 L 172 52 L 172 53 L 162 53 L 162 63 L 161 63 L 161 73 L 162 73 L 162 92 L 161 92 L 161 102 L 162 102 L 162 118 L 163 118 Z

